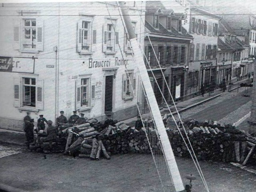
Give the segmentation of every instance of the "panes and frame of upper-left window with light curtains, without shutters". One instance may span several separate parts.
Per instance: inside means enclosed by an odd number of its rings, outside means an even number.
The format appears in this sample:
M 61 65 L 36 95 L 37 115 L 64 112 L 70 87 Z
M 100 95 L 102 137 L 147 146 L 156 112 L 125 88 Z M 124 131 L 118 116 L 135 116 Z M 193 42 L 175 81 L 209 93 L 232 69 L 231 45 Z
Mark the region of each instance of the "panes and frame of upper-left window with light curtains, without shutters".
M 24 49 L 36 48 L 36 20 L 25 19 L 24 20 Z

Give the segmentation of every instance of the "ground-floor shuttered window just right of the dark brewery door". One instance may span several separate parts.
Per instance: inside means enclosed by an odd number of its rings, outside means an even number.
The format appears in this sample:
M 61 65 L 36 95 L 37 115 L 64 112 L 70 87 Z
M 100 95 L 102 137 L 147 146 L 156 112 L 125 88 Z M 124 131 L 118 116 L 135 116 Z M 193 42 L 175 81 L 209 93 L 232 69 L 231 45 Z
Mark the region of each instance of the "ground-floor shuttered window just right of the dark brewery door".
M 126 74 L 123 74 L 122 84 L 122 98 L 124 100 L 132 99 L 136 90 L 136 78 L 133 70 L 128 70 Z

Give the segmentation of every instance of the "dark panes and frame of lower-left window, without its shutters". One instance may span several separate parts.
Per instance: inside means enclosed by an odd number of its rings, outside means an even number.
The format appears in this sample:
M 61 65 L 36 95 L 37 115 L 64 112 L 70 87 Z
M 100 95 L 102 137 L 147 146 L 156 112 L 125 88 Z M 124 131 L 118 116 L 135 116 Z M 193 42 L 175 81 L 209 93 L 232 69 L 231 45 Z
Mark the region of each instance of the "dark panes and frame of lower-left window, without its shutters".
M 36 106 L 36 79 L 23 78 L 23 106 Z

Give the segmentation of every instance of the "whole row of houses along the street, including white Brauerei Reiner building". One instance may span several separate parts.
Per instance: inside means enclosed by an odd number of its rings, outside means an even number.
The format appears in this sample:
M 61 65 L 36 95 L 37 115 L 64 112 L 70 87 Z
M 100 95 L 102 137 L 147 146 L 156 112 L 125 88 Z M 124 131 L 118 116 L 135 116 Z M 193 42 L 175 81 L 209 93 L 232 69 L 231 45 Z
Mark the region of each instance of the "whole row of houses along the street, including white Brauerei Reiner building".
M 159 105 L 158 86 L 169 102 L 167 86 L 175 100 L 186 100 L 202 84 L 252 72 L 251 23 L 239 35 L 223 16 L 191 4 L 126 2 Z M 144 100 L 138 63 L 118 4 L 4 3 L 0 10 L 1 128 L 21 130 L 26 112 L 47 120 L 61 110 L 67 117 L 76 110 L 98 120 L 138 114 Z

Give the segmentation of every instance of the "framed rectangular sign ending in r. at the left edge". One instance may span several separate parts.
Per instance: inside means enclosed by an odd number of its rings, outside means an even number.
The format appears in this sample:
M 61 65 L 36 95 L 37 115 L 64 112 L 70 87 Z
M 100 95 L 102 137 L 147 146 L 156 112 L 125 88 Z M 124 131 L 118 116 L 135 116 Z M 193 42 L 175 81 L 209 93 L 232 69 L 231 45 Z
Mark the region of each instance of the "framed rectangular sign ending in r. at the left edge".
M 33 58 L 0 56 L 0 71 L 2 71 L 2 72 L 33 73 L 34 72 L 34 59 Z

